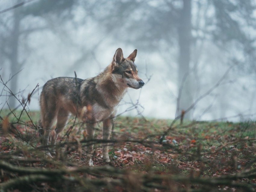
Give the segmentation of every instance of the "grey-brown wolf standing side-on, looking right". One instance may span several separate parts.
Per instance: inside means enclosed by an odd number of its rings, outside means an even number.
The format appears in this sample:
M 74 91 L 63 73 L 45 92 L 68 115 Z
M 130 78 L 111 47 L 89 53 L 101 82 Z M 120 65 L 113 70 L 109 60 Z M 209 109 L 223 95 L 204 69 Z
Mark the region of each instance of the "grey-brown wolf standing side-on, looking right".
M 127 88 L 142 88 L 144 82 L 138 76 L 134 64 L 137 49 L 127 58 L 118 48 L 105 70 L 89 79 L 58 77 L 45 83 L 40 95 L 42 144 L 55 144 L 58 134 L 67 124 L 69 114 L 86 123 L 86 140 L 94 138 L 95 125 L 103 122 L 103 139 L 109 140 L 117 106 Z M 53 134 L 53 123 L 57 119 Z M 50 136 L 51 135 L 51 136 Z M 47 154 L 51 156 L 48 149 Z M 86 161 L 93 166 L 93 144 L 87 147 Z M 108 144 L 102 148 L 103 160 L 110 162 Z

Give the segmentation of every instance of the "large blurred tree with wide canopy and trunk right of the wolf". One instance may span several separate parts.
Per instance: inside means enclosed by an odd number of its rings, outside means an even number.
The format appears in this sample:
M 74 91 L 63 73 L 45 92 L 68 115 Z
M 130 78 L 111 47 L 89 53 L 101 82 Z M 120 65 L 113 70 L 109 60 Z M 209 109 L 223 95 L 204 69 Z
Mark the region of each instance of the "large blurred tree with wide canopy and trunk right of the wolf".
M 203 49 L 205 42 L 225 51 L 230 63 L 256 69 L 253 0 L 127 0 L 96 4 L 88 10 L 90 15 L 105 26 L 105 33 L 115 41 L 125 41 L 149 53 L 157 50 L 163 57 L 166 51 L 178 55 L 177 85 L 181 95 L 176 116 L 193 103 L 196 90 L 191 71 L 196 71 L 198 58 L 192 60 L 191 56 L 195 57 L 195 51 Z M 170 63 L 170 57 L 166 58 Z M 191 114 L 186 113 L 184 119 L 190 118 Z

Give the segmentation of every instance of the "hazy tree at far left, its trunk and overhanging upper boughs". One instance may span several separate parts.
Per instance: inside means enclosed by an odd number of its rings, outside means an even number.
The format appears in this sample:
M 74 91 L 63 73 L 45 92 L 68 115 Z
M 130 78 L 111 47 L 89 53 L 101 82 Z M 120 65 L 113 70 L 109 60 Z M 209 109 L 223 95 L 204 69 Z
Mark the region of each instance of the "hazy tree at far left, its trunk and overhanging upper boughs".
M 17 4 L 20 0 L 15 1 Z M 73 1 L 36 1 L 27 5 L 13 8 L 10 11 L 2 14 L 4 17 L 0 19 L 0 54 L 10 63 L 11 70 L 11 91 L 18 94 L 18 72 L 23 68 L 27 58 L 31 54 L 31 50 L 27 50 L 26 39 L 33 32 L 42 31 L 43 29 L 51 30 L 49 26 L 40 25 L 31 22 L 31 25 L 26 20 L 27 17 L 44 18 L 46 14 L 56 14 L 63 20 L 67 19 L 68 12 L 73 5 Z M 67 11 L 66 11 L 67 10 Z M 11 108 L 15 107 L 15 98 L 10 97 L 8 104 Z

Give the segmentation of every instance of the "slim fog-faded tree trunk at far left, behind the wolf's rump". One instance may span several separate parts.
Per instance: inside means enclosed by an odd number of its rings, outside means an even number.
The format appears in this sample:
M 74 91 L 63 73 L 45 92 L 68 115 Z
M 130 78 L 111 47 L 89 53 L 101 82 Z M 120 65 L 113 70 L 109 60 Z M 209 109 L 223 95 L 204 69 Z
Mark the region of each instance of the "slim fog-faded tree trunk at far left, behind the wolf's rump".
M 20 15 L 19 15 L 19 9 L 14 9 L 14 20 L 13 20 L 13 29 L 10 36 L 10 42 L 11 42 L 11 76 L 13 78 L 11 79 L 11 91 L 16 94 L 17 93 L 17 83 L 18 83 L 18 75 L 16 74 L 20 70 L 20 64 L 18 62 L 18 45 L 19 45 L 19 35 L 20 35 Z M 16 74 L 16 75 L 14 75 Z M 16 99 L 14 96 L 11 96 L 11 98 L 8 101 L 8 104 L 11 108 L 16 107 L 15 106 Z

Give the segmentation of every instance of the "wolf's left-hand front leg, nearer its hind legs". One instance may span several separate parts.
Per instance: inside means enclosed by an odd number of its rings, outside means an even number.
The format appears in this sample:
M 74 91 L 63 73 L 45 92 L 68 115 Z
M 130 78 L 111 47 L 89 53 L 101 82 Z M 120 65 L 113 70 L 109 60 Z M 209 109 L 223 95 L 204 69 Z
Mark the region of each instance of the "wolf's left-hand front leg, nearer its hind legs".
M 87 123 L 86 125 L 86 140 L 91 140 L 94 138 L 94 123 Z M 93 144 L 87 146 L 87 153 L 86 153 L 86 162 L 88 162 L 89 166 L 93 166 L 92 161 L 92 155 L 93 155 Z

